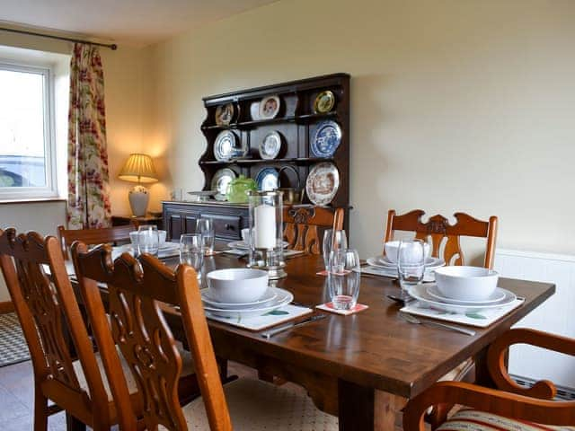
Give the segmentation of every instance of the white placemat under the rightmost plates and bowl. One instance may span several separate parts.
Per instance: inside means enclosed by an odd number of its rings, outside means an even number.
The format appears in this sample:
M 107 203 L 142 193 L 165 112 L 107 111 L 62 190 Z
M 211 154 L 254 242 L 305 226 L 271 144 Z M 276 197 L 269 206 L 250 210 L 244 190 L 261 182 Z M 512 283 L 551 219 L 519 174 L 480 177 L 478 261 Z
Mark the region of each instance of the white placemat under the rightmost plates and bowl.
M 439 321 L 453 321 L 454 323 L 463 323 L 464 325 L 476 326 L 478 328 L 487 328 L 491 323 L 499 321 L 500 318 L 509 312 L 512 312 L 524 302 L 525 299 L 521 298 L 516 299 L 514 302 L 509 303 L 509 305 L 501 308 L 485 309 L 459 314 L 456 312 L 446 312 L 445 310 L 431 308 L 429 305 L 424 305 L 419 301 L 412 301 L 405 305 L 400 312 L 409 312 L 410 314 L 438 319 Z

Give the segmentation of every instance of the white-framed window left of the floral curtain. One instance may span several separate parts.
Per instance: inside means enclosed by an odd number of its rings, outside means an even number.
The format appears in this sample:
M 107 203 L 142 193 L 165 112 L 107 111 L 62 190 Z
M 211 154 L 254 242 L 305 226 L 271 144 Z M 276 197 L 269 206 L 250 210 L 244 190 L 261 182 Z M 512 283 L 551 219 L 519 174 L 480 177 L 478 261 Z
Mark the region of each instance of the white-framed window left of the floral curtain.
M 57 197 L 49 67 L 0 62 L 0 200 Z

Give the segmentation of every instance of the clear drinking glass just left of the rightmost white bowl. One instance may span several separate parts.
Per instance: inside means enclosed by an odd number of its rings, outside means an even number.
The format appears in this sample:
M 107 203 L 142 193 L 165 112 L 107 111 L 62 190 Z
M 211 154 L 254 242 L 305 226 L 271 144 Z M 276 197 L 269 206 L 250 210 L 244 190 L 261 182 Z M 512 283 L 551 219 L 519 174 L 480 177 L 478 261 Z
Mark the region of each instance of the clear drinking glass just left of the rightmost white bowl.
M 425 242 L 421 240 L 402 241 L 397 250 L 397 273 L 402 286 L 402 297 L 409 296 L 408 290 L 423 280 L 425 272 Z

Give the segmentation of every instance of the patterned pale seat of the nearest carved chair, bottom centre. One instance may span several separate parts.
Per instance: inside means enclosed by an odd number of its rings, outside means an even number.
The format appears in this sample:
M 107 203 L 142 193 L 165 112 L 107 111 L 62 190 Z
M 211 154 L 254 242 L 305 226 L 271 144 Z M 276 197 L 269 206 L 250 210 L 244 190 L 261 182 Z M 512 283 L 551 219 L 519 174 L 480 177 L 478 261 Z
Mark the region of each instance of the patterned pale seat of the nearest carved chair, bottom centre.
M 304 393 L 255 379 L 239 379 L 224 386 L 234 431 L 332 431 L 338 418 L 323 413 Z M 209 431 L 202 398 L 183 409 L 188 428 Z

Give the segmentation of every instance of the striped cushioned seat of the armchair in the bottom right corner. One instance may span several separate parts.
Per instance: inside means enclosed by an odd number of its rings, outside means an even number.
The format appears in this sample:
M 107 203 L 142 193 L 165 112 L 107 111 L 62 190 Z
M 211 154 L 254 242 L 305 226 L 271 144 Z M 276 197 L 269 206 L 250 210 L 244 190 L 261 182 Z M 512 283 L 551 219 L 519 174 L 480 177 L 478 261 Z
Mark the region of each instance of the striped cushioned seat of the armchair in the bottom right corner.
M 517 420 L 493 415 L 481 410 L 462 409 L 447 420 L 438 431 L 542 431 L 575 430 L 575 427 L 553 427 L 539 425 L 525 420 Z

